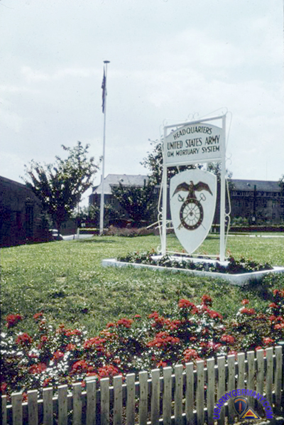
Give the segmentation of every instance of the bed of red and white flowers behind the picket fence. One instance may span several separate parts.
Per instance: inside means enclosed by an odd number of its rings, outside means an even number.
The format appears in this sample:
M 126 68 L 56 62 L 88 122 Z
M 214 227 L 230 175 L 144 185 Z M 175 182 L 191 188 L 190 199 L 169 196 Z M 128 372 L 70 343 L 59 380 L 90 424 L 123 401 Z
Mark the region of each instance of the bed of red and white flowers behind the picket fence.
M 231 321 L 212 309 L 206 294 L 200 305 L 180 299 L 169 315 L 154 311 L 146 318 L 121 318 L 91 338 L 82 329 L 53 328 L 43 313 L 33 316 L 34 335 L 21 333 L 23 316 L 9 314 L 1 334 L 1 392 L 78 380 L 84 385 L 87 376 L 126 375 L 276 345 L 284 339 L 284 290 L 273 291 L 273 297 L 263 313 L 244 299 Z

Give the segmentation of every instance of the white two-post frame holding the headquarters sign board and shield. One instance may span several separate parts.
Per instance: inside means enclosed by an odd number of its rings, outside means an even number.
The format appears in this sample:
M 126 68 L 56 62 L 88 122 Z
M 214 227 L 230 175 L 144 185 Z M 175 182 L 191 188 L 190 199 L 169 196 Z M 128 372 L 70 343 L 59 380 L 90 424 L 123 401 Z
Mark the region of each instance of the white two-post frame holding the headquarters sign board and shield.
M 216 127 L 213 124 L 209 124 L 212 121 L 216 120 L 222 120 L 222 127 Z M 213 156 L 212 158 L 210 156 L 204 158 L 200 158 L 200 155 L 197 155 L 196 158 L 194 158 L 194 155 L 191 159 L 185 158 L 185 161 L 168 161 L 168 146 L 166 146 L 169 139 L 167 139 L 170 134 L 168 134 L 169 129 L 173 129 L 176 127 L 175 131 L 172 131 L 172 134 L 178 134 L 178 136 L 187 136 L 187 132 L 185 131 L 185 134 L 181 131 L 182 129 L 185 129 L 185 127 L 189 127 L 192 125 L 200 124 L 206 124 L 207 128 L 214 127 L 214 129 L 219 129 L 219 139 L 218 139 L 218 146 L 219 149 L 217 150 L 219 154 L 217 156 Z M 204 127 L 204 131 L 201 130 L 203 133 L 206 134 L 206 128 Z M 209 132 L 209 131 L 207 131 Z M 178 137 L 179 138 L 179 137 Z M 176 138 L 176 139 L 178 139 Z M 195 138 L 196 144 L 197 139 Z M 171 140 L 171 138 L 170 138 Z M 185 140 L 184 138 L 182 140 Z M 160 240 L 161 240 L 161 254 L 165 255 L 167 252 L 167 208 L 168 208 L 168 168 L 173 166 L 185 166 L 185 165 L 191 165 L 195 163 L 208 163 L 208 162 L 220 162 L 221 163 L 221 193 L 220 193 L 220 247 L 219 247 L 219 259 L 221 262 L 225 261 L 225 222 L 226 222 L 226 114 L 220 115 L 217 117 L 209 117 L 206 119 L 198 119 L 191 122 L 182 122 L 179 124 L 170 124 L 164 126 L 163 131 L 163 176 L 162 176 L 162 232 L 160 234 Z M 178 141 L 178 140 L 177 140 Z M 193 143 L 193 142 L 192 142 Z M 198 142 L 200 146 L 202 146 L 202 142 Z M 173 149 L 180 149 L 182 144 L 174 144 Z M 187 155 L 187 154 L 185 154 Z

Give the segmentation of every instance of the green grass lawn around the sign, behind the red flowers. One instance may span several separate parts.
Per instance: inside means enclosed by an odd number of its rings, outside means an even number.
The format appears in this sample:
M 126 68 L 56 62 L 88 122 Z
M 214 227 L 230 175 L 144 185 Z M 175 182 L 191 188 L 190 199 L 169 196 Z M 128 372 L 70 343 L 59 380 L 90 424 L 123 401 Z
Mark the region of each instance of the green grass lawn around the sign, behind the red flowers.
M 90 240 L 61 241 L 1 249 L 1 317 L 21 313 L 28 332 L 33 314 L 44 311 L 53 323 L 87 328 L 89 335 L 107 322 L 138 313 L 170 312 L 180 298 L 199 303 L 209 294 L 213 308 L 225 317 L 249 298 L 250 307 L 264 308 L 273 289 L 284 289 L 284 276 L 265 278 L 257 286 L 239 288 L 214 279 L 185 274 L 158 273 L 146 269 L 103 268 L 104 258 L 133 251 L 156 249 L 159 237 L 92 237 Z M 168 248 L 181 250 L 174 235 Z M 229 237 L 227 249 L 233 257 L 284 266 L 284 238 Z M 219 240 L 209 236 L 200 252 L 217 254 Z

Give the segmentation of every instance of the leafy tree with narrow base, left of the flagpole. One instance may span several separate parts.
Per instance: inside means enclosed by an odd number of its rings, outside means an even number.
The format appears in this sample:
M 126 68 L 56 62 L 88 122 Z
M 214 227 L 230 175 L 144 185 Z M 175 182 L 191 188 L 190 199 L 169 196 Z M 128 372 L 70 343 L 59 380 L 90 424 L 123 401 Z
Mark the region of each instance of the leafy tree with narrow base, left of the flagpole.
M 99 168 L 94 158 L 87 156 L 88 144 L 83 146 L 78 141 L 74 148 L 64 145 L 62 148 L 68 153 L 67 159 L 55 156 L 55 164 L 44 166 L 31 161 L 29 166 L 25 166 L 26 178 L 23 178 L 58 231 L 80 203 L 82 194 L 92 185 L 94 173 Z

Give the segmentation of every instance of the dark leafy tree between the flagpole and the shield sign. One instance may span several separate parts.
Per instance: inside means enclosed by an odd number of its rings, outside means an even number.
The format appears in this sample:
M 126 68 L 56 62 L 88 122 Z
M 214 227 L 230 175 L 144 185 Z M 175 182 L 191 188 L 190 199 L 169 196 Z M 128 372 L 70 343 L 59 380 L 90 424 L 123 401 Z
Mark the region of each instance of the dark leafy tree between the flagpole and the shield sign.
M 138 225 L 142 221 L 151 221 L 157 209 L 154 188 L 150 182 L 144 183 L 143 187 L 125 186 L 119 183 L 119 186 L 113 186 L 111 191 L 121 208 L 126 210 L 129 218 Z

